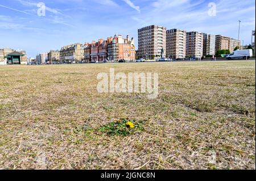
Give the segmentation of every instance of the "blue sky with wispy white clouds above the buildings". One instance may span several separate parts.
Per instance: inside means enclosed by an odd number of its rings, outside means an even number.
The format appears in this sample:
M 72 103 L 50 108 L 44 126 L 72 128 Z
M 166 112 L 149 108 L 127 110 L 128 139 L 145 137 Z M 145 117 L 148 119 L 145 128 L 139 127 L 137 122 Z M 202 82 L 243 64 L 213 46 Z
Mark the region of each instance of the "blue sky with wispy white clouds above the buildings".
M 46 16 L 38 16 L 39 2 Z M 216 4 L 210 16 L 209 3 Z M 0 48 L 27 51 L 28 57 L 114 34 L 130 35 L 137 43 L 138 28 L 156 24 L 238 38 L 244 45 L 255 29 L 252 0 L 9 0 L 0 1 Z

